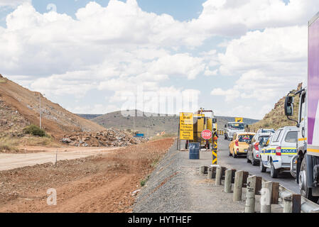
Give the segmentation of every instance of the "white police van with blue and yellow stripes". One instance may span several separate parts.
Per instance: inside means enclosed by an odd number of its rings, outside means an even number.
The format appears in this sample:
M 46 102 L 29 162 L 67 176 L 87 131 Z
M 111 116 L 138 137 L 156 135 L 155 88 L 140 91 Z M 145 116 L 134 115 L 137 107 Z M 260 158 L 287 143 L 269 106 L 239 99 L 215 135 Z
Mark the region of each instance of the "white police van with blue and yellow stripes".
M 269 168 L 271 177 L 276 178 L 279 172 L 290 170 L 291 159 L 297 154 L 298 128 L 287 126 L 279 128 L 266 143 L 261 152 L 260 170 Z

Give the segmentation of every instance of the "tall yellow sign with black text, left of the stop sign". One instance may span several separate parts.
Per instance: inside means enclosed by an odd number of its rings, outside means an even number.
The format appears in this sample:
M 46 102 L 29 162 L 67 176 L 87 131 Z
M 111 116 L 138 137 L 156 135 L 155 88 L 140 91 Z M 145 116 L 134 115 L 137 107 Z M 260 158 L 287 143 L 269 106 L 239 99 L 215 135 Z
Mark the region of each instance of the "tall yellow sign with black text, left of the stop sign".
M 180 113 L 180 140 L 193 140 L 193 113 Z

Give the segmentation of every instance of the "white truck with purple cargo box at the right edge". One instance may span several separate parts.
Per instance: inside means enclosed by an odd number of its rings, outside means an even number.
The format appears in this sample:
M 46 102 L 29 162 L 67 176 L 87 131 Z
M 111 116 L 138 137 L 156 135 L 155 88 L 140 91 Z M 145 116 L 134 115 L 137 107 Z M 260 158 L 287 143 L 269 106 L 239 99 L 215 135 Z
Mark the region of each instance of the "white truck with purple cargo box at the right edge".
M 308 23 L 307 87 L 286 96 L 288 118 L 293 116 L 293 97 L 297 95 L 300 97 L 297 155 L 291 160 L 291 175 L 296 177 L 301 195 L 316 202 L 319 199 L 319 13 Z

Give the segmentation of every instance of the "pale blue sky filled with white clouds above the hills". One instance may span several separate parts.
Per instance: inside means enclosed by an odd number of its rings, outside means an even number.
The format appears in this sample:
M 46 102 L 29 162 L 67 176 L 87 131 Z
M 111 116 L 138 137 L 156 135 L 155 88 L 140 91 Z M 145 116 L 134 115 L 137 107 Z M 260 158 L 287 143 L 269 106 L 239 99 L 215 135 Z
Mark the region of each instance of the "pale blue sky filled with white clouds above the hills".
M 262 118 L 305 80 L 306 25 L 319 11 L 314 0 L 3 1 L 0 73 L 83 114 L 131 106 L 143 85 Z M 168 107 L 178 111 L 193 109 Z

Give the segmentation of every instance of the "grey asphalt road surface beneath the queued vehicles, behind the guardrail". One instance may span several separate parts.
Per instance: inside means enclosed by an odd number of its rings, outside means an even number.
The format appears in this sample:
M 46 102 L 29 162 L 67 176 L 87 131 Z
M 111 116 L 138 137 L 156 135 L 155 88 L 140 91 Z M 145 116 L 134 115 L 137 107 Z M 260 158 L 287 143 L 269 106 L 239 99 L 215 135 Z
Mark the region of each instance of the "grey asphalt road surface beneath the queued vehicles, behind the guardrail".
M 229 141 L 224 140 L 223 136 L 220 135 L 220 138 L 218 140 L 218 164 L 222 165 L 224 167 L 227 167 L 229 169 L 234 170 L 244 170 L 249 172 L 251 175 L 256 175 L 259 177 L 263 177 L 266 180 L 273 181 L 273 182 L 279 182 L 283 187 L 286 187 L 288 189 L 291 189 L 291 191 L 299 193 L 298 184 L 296 183 L 295 179 L 291 177 L 290 172 L 283 172 L 281 175 L 279 175 L 278 178 L 274 179 L 270 176 L 270 170 L 267 169 L 267 172 L 260 172 L 259 166 L 253 166 L 252 163 L 247 163 L 246 157 L 237 157 L 234 158 L 232 156 L 229 156 L 229 150 L 228 150 Z M 185 145 L 182 145 L 182 148 L 185 148 Z M 206 153 L 206 152 L 205 152 Z M 204 154 L 203 154 L 204 155 Z M 209 154 L 205 154 L 209 155 Z M 204 157 L 204 156 L 202 156 Z M 211 163 L 208 163 L 207 165 L 210 165 Z

